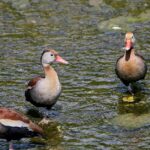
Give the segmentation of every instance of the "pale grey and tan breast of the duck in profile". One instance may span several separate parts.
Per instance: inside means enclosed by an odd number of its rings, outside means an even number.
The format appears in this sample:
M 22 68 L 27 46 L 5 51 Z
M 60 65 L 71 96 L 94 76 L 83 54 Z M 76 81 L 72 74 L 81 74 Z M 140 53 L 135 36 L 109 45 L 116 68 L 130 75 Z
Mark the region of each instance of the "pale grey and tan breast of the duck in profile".
M 31 97 L 38 103 L 51 104 L 61 93 L 61 84 L 53 68 L 46 72 L 46 77 L 41 78 L 31 91 Z

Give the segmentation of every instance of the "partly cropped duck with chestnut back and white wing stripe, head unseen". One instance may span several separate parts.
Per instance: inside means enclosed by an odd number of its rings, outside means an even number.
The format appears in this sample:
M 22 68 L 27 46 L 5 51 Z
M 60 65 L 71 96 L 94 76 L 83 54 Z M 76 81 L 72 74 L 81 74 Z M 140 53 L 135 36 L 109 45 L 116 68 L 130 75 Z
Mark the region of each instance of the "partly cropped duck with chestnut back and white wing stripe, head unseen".
M 14 110 L 0 107 L 0 138 L 11 141 L 42 134 L 42 128 L 24 115 Z M 11 143 L 9 149 L 13 149 Z

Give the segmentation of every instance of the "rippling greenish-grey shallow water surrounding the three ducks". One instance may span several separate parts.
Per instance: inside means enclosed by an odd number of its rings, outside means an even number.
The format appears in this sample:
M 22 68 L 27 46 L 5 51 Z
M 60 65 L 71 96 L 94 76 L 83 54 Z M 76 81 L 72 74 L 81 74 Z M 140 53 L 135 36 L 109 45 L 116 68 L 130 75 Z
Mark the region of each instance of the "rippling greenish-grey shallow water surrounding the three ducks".
M 150 149 L 149 71 L 133 104 L 122 102 L 127 89 L 114 72 L 127 31 L 135 33 L 136 51 L 150 65 L 149 8 L 149 0 L 0 2 L 1 106 L 38 123 L 42 117 L 24 91 L 29 79 L 43 74 L 42 49 L 52 47 L 70 63 L 53 65 L 63 92 L 43 127 L 47 136 L 40 143 L 14 141 L 15 149 Z M 7 146 L 0 140 L 0 149 Z

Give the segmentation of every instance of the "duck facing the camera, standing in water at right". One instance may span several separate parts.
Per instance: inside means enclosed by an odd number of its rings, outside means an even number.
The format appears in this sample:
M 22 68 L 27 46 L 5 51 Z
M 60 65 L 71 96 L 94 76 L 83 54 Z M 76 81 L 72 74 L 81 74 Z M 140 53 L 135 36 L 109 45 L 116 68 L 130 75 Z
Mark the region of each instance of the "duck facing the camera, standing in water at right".
M 134 50 L 135 38 L 133 33 L 128 32 L 125 35 L 125 54 L 116 62 L 116 74 L 120 80 L 128 86 L 129 92 L 133 94 L 131 83 L 144 79 L 147 66 L 145 60 Z

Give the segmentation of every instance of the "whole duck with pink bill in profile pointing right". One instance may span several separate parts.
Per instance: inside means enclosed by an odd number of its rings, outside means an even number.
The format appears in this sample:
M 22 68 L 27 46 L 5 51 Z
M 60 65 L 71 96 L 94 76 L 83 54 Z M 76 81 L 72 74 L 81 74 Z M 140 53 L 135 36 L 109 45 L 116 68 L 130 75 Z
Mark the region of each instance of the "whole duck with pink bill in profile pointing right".
M 37 107 L 51 108 L 61 94 L 61 84 L 58 75 L 51 66 L 54 62 L 68 64 L 55 50 L 44 50 L 41 56 L 41 63 L 45 78 L 36 77 L 28 83 L 25 91 L 26 100 Z

